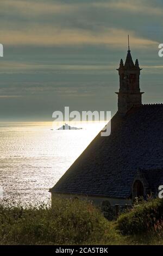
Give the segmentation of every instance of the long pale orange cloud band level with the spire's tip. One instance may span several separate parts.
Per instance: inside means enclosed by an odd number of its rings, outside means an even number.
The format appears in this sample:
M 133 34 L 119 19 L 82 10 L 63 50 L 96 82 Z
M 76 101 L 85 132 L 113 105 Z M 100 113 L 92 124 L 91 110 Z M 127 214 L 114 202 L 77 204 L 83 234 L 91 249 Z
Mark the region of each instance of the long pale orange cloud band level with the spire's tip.
M 108 45 L 124 47 L 127 45 L 127 34 L 134 48 L 158 45 L 154 40 L 141 38 L 133 31 L 116 28 L 103 28 L 101 32 L 91 32 L 80 29 L 60 29 L 59 27 L 37 27 L 24 31 L 1 31 L 4 45 Z M 5 50 L 4 50 L 5 51 Z M 5 53 L 4 53 L 5 54 Z

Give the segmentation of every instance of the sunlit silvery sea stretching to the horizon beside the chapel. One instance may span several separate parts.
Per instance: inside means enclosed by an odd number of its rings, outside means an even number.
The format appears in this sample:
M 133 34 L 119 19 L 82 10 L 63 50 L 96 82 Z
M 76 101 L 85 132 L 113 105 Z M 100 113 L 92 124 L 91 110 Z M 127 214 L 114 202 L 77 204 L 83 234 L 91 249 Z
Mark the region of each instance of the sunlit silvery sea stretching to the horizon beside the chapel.
M 50 203 L 53 187 L 104 127 L 104 122 L 0 123 L 0 199 L 6 203 Z

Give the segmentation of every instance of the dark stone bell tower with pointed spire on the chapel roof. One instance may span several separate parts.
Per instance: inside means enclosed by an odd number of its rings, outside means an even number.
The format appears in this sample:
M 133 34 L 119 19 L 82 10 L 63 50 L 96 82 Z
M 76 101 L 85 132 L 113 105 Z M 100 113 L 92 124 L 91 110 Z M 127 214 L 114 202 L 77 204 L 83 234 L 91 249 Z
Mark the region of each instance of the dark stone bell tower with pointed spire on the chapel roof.
M 135 64 L 130 53 L 128 36 L 128 53 L 126 62 L 121 59 L 120 67 L 117 69 L 120 76 L 120 89 L 118 94 L 118 113 L 124 115 L 133 105 L 142 104 L 142 94 L 140 92 L 140 67 L 136 59 Z

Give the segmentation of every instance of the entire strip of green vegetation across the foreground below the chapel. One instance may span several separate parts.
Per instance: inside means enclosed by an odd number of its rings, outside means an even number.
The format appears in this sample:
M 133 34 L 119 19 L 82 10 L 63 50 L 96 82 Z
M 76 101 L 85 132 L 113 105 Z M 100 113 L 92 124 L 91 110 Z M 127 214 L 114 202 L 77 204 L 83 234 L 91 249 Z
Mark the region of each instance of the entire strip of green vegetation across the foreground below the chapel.
M 124 245 L 163 243 L 163 201 L 135 205 L 116 222 L 80 200 L 28 207 L 0 206 L 1 245 Z

